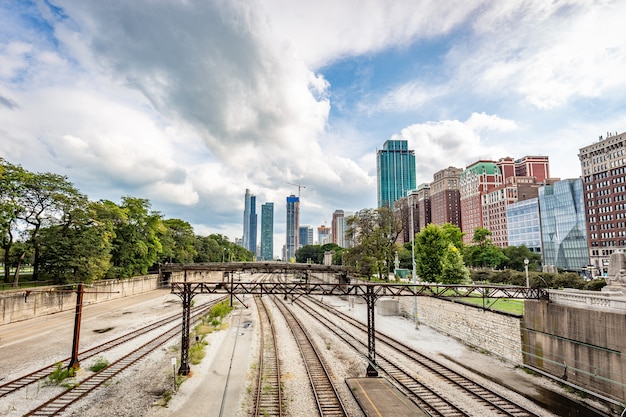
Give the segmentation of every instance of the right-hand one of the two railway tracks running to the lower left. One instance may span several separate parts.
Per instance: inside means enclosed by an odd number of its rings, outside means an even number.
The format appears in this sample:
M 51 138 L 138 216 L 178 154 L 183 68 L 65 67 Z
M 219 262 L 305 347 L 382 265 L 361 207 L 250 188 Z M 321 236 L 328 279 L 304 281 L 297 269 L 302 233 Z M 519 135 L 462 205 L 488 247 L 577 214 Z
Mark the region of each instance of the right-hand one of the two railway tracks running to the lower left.
M 206 314 L 206 312 L 212 306 L 220 301 L 222 301 L 222 299 L 213 300 L 195 309 L 192 318 L 195 320 Z M 49 399 L 48 401 L 45 401 L 43 404 L 39 405 L 35 409 L 24 414 L 24 416 L 54 416 L 59 414 L 60 412 L 64 411 L 69 406 L 74 404 L 76 401 L 105 385 L 108 381 L 120 374 L 122 371 L 135 365 L 137 362 L 139 362 L 149 354 L 153 353 L 160 346 L 164 345 L 179 334 L 180 327 L 178 325 L 170 327 L 166 331 L 153 337 L 148 342 L 143 343 L 132 352 L 113 361 L 106 368 L 98 372 L 94 372 L 91 376 L 79 381 L 78 385 L 68 388 L 62 393 Z M 126 343 L 132 339 L 133 338 L 128 338 L 124 342 L 118 343 L 117 346 L 122 343 Z

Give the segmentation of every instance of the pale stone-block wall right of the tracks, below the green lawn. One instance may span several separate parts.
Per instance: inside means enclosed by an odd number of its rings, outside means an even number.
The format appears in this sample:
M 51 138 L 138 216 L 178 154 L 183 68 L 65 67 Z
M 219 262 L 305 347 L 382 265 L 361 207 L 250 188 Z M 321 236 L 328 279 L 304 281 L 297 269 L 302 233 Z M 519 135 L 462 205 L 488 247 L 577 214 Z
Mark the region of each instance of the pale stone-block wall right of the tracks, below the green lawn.
M 413 317 L 414 298 L 398 297 Z M 433 297 L 417 297 L 420 323 L 514 364 L 522 364 L 521 318 Z

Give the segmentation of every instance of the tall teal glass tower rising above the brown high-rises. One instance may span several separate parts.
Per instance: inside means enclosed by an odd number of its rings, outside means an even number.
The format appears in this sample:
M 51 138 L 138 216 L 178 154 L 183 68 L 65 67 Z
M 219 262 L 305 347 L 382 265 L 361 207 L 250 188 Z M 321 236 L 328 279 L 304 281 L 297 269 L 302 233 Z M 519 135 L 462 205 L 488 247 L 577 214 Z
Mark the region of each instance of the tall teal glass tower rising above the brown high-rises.
M 378 207 L 393 203 L 415 189 L 415 151 L 406 140 L 388 140 L 376 152 Z

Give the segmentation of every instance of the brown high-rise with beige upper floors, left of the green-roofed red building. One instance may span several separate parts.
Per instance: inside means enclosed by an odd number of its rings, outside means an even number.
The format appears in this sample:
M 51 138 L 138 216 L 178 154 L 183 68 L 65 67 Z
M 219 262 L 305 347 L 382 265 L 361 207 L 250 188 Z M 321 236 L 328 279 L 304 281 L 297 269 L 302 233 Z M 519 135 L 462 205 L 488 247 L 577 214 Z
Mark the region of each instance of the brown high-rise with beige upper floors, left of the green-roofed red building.
M 448 167 L 433 175 L 430 183 L 430 216 L 434 224 L 452 223 L 461 227 L 461 192 L 463 168 Z

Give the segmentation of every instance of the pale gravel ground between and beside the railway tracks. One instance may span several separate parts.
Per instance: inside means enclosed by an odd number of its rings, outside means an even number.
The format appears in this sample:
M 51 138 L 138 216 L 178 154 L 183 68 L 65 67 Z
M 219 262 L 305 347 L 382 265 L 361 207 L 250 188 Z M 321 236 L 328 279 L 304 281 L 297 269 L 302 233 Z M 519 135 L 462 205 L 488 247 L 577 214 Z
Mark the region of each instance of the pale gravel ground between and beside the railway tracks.
M 160 293 L 155 292 L 151 300 L 137 298 L 135 302 L 133 300 L 127 301 L 129 303 L 125 307 L 110 304 L 108 310 L 105 309 L 97 315 L 96 320 L 90 320 L 89 315 L 85 315 L 83 324 L 85 336 L 82 339 L 84 342 L 81 343 L 83 349 L 95 344 L 100 338 L 112 338 L 130 329 L 138 328 L 164 314 L 170 314 L 170 312 L 180 309 L 178 297 L 163 291 Z M 354 309 L 349 310 L 347 302 L 339 298 L 328 298 L 324 301 L 354 317 L 359 317 L 362 321 L 365 321 L 367 317 L 364 304 L 357 303 Z M 250 302 L 249 304 L 250 310 L 246 311 L 246 314 L 253 318 L 253 326 L 256 326 L 257 315 L 256 311 L 253 310 L 254 303 Z M 270 314 L 275 320 L 280 340 L 281 366 L 289 415 L 293 417 L 309 416 L 311 415 L 310 410 L 313 409 L 314 405 L 312 395 L 309 393 L 308 379 L 302 359 L 291 332 L 284 326 L 284 320 L 278 309 L 272 307 Z M 236 313 L 231 318 L 235 317 L 235 315 Z M 364 376 L 366 368 L 364 355 L 366 355 L 366 352 L 353 353 L 351 349 L 344 346 L 342 341 L 329 335 L 313 319 L 307 318 L 307 314 L 299 314 L 299 317 L 305 321 L 305 325 L 316 335 L 319 342 L 318 345 L 322 347 L 325 360 L 338 380 Z M 22 323 L 21 327 L 27 327 L 30 325 L 34 326 L 33 323 L 37 320 L 40 322 L 41 320 L 46 321 L 49 325 L 45 326 L 46 332 L 44 336 L 39 335 L 35 340 L 24 338 L 22 342 L 16 341 L 10 345 L 0 345 L 0 355 L 3 357 L 0 363 L 0 377 L 2 379 L 10 380 L 18 374 L 23 375 L 26 370 L 38 369 L 57 360 L 55 358 L 67 356 L 69 351 L 67 347 L 67 327 L 70 328 L 69 334 L 71 335 L 71 325 L 64 324 L 55 331 L 55 326 L 51 325 L 52 319 L 40 318 L 34 319 L 32 323 Z M 231 323 L 232 325 L 234 323 Z M 438 334 L 427 326 L 420 326 L 419 330 L 416 330 L 411 321 L 402 317 L 377 315 L 376 326 L 377 330 L 382 330 L 390 336 L 399 338 L 413 348 L 432 355 L 440 362 L 445 362 L 461 373 L 471 374 L 473 378 L 481 379 L 485 385 L 492 388 L 501 389 L 497 383 L 501 379 L 519 384 L 522 391 L 524 389 L 534 389 L 534 387 L 539 385 L 551 389 L 555 388 L 554 384 L 544 378 L 530 377 L 508 363 L 473 351 L 454 339 Z M 112 329 L 107 332 L 106 336 L 95 332 L 96 329 L 109 327 Z M 6 326 L 0 327 L 0 332 L 6 333 L 6 330 Z M 211 361 L 223 360 L 223 358 L 214 358 L 213 356 L 227 335 L 226 331 L 219 331 L 208 336 L 209 346 L 205 359 L 200 365 L 192 365 L 191 377 L 180 386 L 178 392 L 173 395 L 167 404 L 167 407 L 163 406 L 165 402 L 164 393 L 172 390 L 173 370 L 171 358 L 180 357 L 180 352 L 177 348 L 177 345 L 180 343 L 179 340 L 175 340 L 169 346 L 158 349 L 146 358 L 140 366 L 120 374 L 106 390 L 90 395 L 80 404 L 65 412 L 64 415 L 73 417 L 162 417 L 170 415 L 175 410 L 184 410 L 184 407 L 188 406 L 190 402 L 190 395 L 194 388 L 199 384 L 210 383 L 209 369 Z M 71 336 L 69 337 L 71 346 Z M 5 338 L 0 340 L 6 341 Z M 249 358 L 240 358 L 241 360 L 249 361 L 250 372 L 248 380 L 241 386 L 241 398 L 239 400 L 241 409 L 238 416 L 247 415 L 246 410 L 248 408 L 246 402 L 251 397 L 248 392 L 253 384 L 254 364 L 258 354 L 254 351 L 254 348 L 252 350 Z M 16 367 L 14 362 L 9 362 L 4 358 L 19 360 L 23 366 Z M 486 375 L 486 378 L 477 376 L 474 370 L 479 370 Z M 498 377 L 490 378 L 490 375 L 497 375 Z M 338 389 L 344 405 L 350 410 L 350 415 L 354 417 L 363 416 L 346 384 L 340 383 Z M 439 389 L 445 392 L 447 388 L 442 385 Z M 29 405 L 33 403 L 32 400 L 43 395 L 43 392 L 46 390 L 58 390 L 58 388 L 40 385 L 3 398 L 0 405 L 0 416 L 22 415 L 25 411 L 32 408 L 29 408 Z M 523 400 L 521 396 L 516 396 Z M 206 415 L 218 415 L 215 414 L 215 399 L 207 398 L 206 403 Z M 468 401 L 468 403 L 470 404 L 466 404 L 465 408 L 471 407 L 471 401 Z M 539 409 L 530 402 L 528 402 L 528 406 L 539 415 L 553 416 L 553 414 Z

